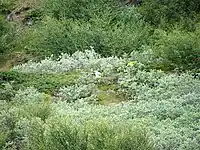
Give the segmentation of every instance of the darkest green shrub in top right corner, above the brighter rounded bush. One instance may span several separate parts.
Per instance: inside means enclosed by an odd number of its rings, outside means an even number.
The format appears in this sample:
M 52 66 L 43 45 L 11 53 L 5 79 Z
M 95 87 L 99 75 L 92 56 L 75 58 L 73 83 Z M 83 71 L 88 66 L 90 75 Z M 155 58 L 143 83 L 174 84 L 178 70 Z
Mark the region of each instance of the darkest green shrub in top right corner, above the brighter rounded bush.
M 186 29 L 193 30 L 197 14 L 200 13 L 198 0 L 145 0 L 139 8 L 144 19 L 156 27 L 182 22 Z M 184 20 L 184 21 L 183 21 Z

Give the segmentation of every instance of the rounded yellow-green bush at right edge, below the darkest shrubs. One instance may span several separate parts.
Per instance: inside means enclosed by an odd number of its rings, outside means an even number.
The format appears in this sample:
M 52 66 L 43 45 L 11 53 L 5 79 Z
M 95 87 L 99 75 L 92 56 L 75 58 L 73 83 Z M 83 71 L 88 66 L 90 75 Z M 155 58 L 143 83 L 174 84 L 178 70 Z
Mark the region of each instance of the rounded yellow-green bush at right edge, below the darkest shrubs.
M 155 32 L 156 40 L 153 50 L 155 56 L 163 59 L 163 66 L 181 70 L 198 69 L 200 65 L 199 30 L 195 32 L 173 31 Z M 162 64 L 161 63 L 161 64 Z

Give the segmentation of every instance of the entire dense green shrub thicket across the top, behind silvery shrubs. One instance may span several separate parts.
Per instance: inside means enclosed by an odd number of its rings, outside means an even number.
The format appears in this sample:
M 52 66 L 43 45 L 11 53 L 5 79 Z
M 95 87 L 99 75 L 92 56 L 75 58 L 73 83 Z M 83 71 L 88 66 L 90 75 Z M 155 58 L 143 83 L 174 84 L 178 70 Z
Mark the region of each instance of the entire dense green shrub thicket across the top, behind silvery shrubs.
M 16 49 L 44 58 L 89 46 L 103 56 L 150 48 L 163 59 L 152 62 L 153 68 L 194 69 L 200 53 L 197 3 L 146 0 L 134 7 L 113 0 L 43 1 L 39 12 L 45 17 L 18 38 Z

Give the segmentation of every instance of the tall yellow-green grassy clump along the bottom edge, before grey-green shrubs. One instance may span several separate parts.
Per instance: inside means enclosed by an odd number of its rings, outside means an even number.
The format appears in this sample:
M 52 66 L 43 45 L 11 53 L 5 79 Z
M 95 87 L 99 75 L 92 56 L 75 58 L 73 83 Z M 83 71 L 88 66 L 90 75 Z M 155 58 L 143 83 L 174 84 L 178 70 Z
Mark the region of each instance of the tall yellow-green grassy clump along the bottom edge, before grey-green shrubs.
M 155 149 L 146 130 L 138 126 L 114 124 L 106 119 L 79 123 L 70 118 L 56 117 L 47 120 L 42 126 L 41 121 L 38 120 L 38 123 L 36 121 L 30 121 L 28 149 L 41 147 L 45 150 Z

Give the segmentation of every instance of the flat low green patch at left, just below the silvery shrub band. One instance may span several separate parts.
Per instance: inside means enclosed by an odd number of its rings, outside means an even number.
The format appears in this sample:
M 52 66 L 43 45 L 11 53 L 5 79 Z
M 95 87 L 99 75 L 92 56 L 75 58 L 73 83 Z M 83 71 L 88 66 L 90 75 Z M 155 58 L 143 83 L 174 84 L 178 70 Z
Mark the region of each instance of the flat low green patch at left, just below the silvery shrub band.
M 35 87 L 40 92 L 54 94 L 62 86 L 74 84 L 79 78 L 79 72 L 69 72 L 62 74 L 34 74 L 19 72 L 1 72 L 1 87 L 3 83 L 12 82 L 14 89 Z

